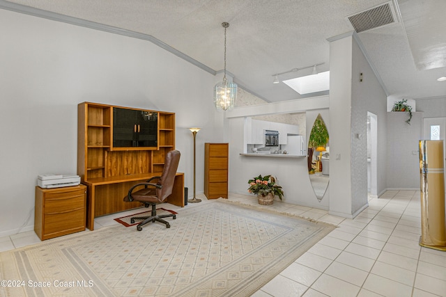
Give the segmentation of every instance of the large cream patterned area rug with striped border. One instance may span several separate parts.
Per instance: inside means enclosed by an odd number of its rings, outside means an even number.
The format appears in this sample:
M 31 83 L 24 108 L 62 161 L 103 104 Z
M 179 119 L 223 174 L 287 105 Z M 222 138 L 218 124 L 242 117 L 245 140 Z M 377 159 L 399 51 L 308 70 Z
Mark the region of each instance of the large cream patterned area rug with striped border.
M 1 252 L 0 296 L 250 296 L 333 229 L 213 200 Z

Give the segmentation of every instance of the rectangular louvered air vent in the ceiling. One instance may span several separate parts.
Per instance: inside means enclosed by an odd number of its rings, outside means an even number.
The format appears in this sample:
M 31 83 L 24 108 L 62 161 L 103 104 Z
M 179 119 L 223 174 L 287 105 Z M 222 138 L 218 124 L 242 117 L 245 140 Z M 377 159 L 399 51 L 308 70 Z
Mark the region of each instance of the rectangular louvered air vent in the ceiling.
M 392 1 L 346 17 L 356 33 L 398 22 Z

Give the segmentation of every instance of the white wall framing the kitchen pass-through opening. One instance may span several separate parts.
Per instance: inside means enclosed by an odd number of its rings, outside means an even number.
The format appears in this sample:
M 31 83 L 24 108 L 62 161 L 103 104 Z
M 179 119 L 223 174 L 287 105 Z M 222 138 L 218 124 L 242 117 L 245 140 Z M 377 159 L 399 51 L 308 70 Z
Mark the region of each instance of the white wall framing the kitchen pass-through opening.
M 323 115 L 324 121 L 327 121 L 325 124 L 329 127 L 328 96 L 275 102 L 275 104 L 268 105 L 243 106 L 227 113 L 229 131 L 231 132 L 229 136 L 229 191 L 247 194 L 248 179 L 260 174 L 274 175 L 284 188 L 284 202 L 328 209 L 329 198 L 327 194 L 321 202 L 318 202 L 316 198 L 309 181 L 307 158 L 305 156 L 296 158 L 240 156 L 240 153 L 244 152 L 243 125 L 245 116 L 302 111 L 309 114 L 306 125 L 310 131 L 318 113 Z M 311 125 L 309 122 L 311 122 Z M 308 134 L 309 132 L 307 132 L 307 138 Z

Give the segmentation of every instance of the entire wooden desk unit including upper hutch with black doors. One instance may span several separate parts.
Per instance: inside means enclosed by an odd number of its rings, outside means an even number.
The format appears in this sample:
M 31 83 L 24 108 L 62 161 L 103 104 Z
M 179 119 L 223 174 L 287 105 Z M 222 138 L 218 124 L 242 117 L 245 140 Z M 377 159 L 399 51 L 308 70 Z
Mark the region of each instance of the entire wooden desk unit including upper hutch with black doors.
M 123 202 L 129 188 L 161 175 L 175 149 L 175 113 L 83 102 L 78 105 L 77 174 L 87 190 L 86 227 L 94 218 L 140 207 Z M 184 207 L 184 174 L 176 174 L 171 204 Z

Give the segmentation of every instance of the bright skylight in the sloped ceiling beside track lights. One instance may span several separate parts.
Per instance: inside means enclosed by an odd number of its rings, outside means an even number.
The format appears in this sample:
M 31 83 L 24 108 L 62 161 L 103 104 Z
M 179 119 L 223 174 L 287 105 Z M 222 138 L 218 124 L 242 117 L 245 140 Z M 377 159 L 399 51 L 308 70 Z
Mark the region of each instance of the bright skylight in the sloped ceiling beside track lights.
M 300 95 L 330 90 L 330 71 L 284 81 Z

